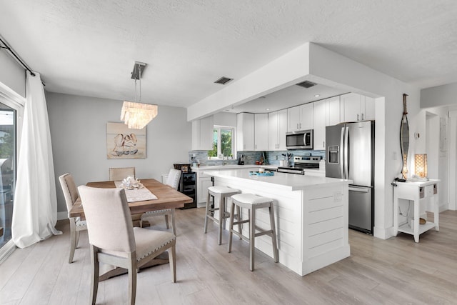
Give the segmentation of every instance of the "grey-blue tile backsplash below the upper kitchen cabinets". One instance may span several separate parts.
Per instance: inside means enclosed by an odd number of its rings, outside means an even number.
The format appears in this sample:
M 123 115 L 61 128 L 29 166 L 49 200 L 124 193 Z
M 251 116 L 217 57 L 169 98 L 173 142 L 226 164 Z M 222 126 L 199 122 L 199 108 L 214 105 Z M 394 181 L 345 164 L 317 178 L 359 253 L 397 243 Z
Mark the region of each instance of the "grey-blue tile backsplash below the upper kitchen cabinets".
M 290 150 L 290 151 L 237 151 L 236 159 L 226 160 L 226 164 L 238 164 L 238 157 L 244 154 L 244 164 L 256 164 L 256 161 L 261 159 L 262 153 L 266 153 L 268 164 L 279 165 L 279 161 L 283 160 L 283 154 L 292 154 L 293 156 L 321 156 L 322 159 L 326 157 L 326 151 L 313 151 L 313 150 Z M 221 165 L 222 160 L 209 160 L 208 151 L 189 151 L 189 163 L 200 163 L 202 166 Z

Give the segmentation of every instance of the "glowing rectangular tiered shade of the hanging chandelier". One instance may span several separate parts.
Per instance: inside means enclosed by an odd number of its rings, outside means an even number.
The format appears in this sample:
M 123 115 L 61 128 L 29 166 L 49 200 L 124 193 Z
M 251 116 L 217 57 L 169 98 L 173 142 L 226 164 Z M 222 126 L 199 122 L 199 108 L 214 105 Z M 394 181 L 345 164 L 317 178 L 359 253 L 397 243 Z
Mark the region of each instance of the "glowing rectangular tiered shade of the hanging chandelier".
M 157 105 L 124 101 L 121 109 L 121 121 L 130 129 L 143 129 L 157 116 Z

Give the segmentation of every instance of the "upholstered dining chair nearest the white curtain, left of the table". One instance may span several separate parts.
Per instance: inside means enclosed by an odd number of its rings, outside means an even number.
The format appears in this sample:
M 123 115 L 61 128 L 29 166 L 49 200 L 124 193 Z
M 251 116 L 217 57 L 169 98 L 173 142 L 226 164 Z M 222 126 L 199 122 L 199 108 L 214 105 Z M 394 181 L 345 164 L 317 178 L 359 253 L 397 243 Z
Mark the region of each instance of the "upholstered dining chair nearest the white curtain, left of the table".
M 59 176 L 60 186 L 64 192 L 66 209 L 69 212 L 70 221 L 70 256 L 69 264 L 73 262 L 74 251 L 78 247 L 79 232 L 87 230 L 86 221 L 81 221 L 79 217 L 70 217 L 71 207 L 74 205 L 77 199 L 79 199 L 78 189 L 74 184 L 74 179 L 71 174 L 63 174 Z

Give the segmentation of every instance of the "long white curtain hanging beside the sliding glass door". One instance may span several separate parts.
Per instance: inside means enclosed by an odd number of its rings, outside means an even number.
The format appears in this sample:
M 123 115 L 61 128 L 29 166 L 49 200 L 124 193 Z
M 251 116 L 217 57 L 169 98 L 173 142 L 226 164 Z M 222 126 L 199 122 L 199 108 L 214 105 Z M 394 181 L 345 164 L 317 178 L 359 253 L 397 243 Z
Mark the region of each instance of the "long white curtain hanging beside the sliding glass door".
M 27 72 L 26 104 L 14 193 L 11 235 L 25 248 L 52 234 L 57 221 L 56 182 L 44 88 L 39 73 Z

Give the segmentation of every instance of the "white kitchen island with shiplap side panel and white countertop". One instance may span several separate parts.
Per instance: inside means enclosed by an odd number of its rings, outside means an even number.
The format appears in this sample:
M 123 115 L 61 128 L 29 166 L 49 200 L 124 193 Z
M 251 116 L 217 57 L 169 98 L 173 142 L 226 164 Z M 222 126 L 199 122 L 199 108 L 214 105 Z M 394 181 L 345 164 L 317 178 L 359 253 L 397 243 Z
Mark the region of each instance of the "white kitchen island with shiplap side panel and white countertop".
M 214 185 L 274 200 L 279 262 L 297 274 L 304 276 L 350 256 L 348 184 L 351 180 L 276 172 L 274 176 L 249 176 L 248 169 L 204 171 L 204 174 L 214 176 Z M 268 228 L 268 217 L 267 211 L 259 210 L 256 224 Z M 248 236 L 248 226 L 242 230 Z M 273 257 L 271 238 L 260 236 L 255 244 Z M 233 247 L 236 249 L 235 244 Z

